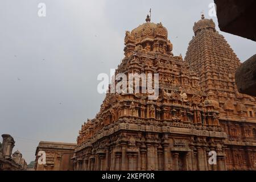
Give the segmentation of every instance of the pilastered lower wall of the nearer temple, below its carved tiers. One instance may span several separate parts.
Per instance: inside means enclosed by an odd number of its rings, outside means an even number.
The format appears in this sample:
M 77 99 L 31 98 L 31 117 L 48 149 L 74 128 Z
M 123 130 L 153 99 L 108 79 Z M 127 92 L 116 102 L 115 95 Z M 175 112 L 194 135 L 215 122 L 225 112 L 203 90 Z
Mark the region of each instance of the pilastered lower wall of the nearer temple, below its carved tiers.
M 127 133 L 126 133 L 127 134 Z M 119 135 L 119 134 L 118 134 Z M 129 134 L 127 134 L 129 135 Z M 157 136 L 158 134 L 148 134 Z M 135 138 L 133 136 L 132 138 Z M 168 137 L 166 135 L 165 137 Z M 204 140 L 205 138 L 201 138 Z M 183 138 L 156 138 L 158 142 L 127 140 L 115 144 L 100 145 L 100 148 L 84 148 L 76 152 L 75 170 L 128 170 L 128 171 L 171 171 L 171 170 L 224 170 L 224 156 L 217 146 L 193 144 L 191 136 Z M 200 139 L 199 139 L 200 140 Z M 102 143 L 105 143 L 102 141 Z M 98 146 L 98 144 L 96 144 Z M 109 146 L 110 145 L 110 146 Z M 109 147 L 108 147 L 109 146 Z M 92 148 L 94 148 L 92 150 Z M 218 151 L 217 165 L 209 165 L 208 152 Z M 94 153 L 93 151 L 100 151 Z

